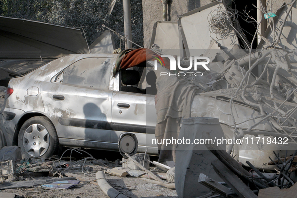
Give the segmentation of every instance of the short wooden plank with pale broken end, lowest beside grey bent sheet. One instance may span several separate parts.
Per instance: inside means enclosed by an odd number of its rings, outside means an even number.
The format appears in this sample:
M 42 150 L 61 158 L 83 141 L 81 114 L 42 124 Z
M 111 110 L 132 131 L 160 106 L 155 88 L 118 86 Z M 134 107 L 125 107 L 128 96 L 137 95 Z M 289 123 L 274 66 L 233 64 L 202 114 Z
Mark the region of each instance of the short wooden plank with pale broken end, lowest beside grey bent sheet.
M 198 182 L 206 186 L 207 188 L 221 194 L 224 197 L 238 197 L 235 192 L 224 185 L 218 183 L 217 181 L 214 181 L 205 174 L 200 174 L 198 177 Z

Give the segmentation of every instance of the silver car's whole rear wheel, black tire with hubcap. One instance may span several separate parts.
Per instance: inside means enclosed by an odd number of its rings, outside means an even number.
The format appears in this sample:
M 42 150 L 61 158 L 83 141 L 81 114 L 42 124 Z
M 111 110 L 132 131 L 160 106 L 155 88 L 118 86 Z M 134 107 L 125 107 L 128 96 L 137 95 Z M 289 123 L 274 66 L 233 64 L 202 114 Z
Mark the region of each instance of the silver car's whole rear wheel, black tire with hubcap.
M 53 123 L 44 116 L 35 116 L 22 125 L 18 144 L 22 154 L 31 158 L 49 158 L 59 148 L 59 140 Z

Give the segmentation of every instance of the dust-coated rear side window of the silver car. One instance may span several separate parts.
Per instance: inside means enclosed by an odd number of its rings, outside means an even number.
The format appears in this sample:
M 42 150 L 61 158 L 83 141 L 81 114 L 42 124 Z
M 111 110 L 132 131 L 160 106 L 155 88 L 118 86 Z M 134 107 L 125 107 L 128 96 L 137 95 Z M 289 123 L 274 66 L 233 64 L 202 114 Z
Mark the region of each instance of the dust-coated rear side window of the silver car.
M 68 66 L 60 82 L 96 89 L 108 89 L 111 75 L 110 58 L 85 58 Z

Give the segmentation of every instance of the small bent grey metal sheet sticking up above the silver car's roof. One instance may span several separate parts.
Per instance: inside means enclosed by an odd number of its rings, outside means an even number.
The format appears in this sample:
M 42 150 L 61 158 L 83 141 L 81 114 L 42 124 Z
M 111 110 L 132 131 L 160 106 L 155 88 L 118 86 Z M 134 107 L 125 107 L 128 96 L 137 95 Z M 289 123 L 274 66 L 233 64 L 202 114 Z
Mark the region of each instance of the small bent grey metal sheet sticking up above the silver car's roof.
M 109 30 L 105 31 L 90 45 L 92 54 L 112 54 L 114 50 L 114 39 Z

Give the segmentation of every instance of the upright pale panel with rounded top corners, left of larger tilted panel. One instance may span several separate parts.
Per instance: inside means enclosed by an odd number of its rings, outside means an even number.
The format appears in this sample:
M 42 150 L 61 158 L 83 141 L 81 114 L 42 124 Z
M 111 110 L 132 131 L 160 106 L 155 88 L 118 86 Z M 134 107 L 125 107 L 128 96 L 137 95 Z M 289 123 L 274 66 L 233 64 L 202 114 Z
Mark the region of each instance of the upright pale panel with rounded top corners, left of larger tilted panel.
M 179 49 L 177 22 L 158 21 L 154 24 L 150 47 L 157 44 L 160 49 Z

